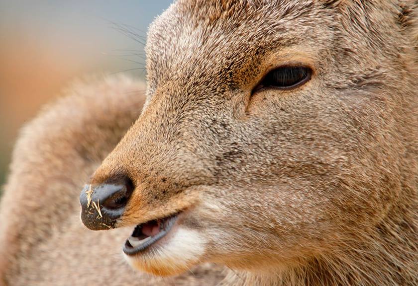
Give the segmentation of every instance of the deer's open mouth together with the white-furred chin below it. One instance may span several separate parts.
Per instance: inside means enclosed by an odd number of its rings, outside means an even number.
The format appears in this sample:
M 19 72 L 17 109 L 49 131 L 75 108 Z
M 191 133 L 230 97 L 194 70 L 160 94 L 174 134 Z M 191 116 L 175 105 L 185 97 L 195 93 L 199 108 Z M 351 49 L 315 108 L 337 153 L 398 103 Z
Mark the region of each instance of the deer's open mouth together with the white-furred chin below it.
M 205 253 L 199 231 L 181 225 L 176 214 L 135 226 L 123 246 L 129 265 L 139 271 L 170 276 L 190 270 Z

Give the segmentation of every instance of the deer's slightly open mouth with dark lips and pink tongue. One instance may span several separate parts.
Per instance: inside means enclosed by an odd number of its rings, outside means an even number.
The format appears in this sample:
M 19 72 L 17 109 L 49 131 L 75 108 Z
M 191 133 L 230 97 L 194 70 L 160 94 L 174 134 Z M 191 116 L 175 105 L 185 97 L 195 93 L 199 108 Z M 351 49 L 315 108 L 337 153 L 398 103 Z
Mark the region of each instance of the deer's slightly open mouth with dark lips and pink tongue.
M 126 255 L 135 255 L 163 238 L 176 222 L 177 214 L 138 224 L 123 245 Z

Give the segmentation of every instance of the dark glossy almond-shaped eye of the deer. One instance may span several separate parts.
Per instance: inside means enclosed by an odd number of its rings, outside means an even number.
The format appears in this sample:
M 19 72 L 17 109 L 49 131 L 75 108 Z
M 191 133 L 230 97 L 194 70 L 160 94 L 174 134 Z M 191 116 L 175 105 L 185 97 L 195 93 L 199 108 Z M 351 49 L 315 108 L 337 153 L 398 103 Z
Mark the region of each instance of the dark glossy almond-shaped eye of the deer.
M 311 75 L 312 70 L 307 67 L 279 67 L 267 73 L 253 89 L 253 93 L 267 88 L 282 90 L 293 89 L 309 81 L 311 79 Z

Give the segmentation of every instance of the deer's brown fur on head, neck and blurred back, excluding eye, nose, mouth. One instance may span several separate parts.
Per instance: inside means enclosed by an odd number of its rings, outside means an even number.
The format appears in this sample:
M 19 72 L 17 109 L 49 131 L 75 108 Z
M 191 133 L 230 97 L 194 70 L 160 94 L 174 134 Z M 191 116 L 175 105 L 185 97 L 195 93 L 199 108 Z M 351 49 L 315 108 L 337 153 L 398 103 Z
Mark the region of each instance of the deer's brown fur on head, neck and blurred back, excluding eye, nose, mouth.
M 73 95 L 23 132 L 2 200 L 0 277 L 143 279 L 114 258 L 128 234 L 82 230 L 72 216 L 76 187 L 110 152 L 90 182 L 133 181 L 118 226 L 182 211 L 135 268 L 216 263 L 231 269 L 221 285 L 418 285 L 416 11 L 412 0 L 175 2 L 149 31 L 143 112 L 111 152 L 139 115 L 141 98 L 123 91 L 134 83 Z M 308 83 L 251 95 L 295 62 L 313 69 Z M 96 93 L 86 88 L 76 92 Z M 177 241 L 175 259 L 161 245 L 181 231 L 191 243 Z M 173 283 L 222 277 L 194 271 Z

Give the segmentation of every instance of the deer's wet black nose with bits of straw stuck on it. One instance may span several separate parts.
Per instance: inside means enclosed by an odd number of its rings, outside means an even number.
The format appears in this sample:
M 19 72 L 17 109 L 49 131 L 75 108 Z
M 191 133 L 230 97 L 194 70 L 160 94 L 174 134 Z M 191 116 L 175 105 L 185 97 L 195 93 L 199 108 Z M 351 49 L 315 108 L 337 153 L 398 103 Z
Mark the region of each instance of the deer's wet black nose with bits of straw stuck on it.
M 80 194 L 81 220 L 93 230 L 114 228 L 132 191 L 129 183 L 86 185 Z

